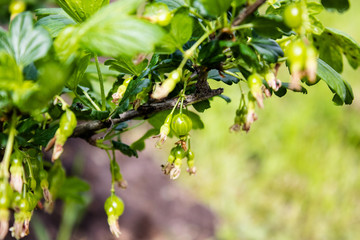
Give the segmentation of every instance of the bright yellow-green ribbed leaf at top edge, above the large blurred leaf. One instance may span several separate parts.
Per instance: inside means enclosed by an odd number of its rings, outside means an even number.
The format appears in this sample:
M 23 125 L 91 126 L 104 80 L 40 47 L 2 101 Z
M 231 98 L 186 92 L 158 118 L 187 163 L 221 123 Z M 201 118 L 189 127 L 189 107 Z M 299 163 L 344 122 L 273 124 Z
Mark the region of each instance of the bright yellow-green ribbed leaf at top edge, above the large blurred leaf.
M 56 2 L 79 23 L 84 22 L 101 7 L 109 4 L 109 0 L 56 0 Z

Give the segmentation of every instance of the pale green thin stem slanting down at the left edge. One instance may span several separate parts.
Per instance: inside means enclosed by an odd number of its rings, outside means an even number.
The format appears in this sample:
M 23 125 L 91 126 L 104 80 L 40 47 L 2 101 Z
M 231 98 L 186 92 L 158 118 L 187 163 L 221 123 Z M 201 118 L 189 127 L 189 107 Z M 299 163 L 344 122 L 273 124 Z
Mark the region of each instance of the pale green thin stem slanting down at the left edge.
M 9 137 L 8 137 L 8 141 L 6 143 L 6 149 L 5 149 L 5 154 L 3 157 L 3 160 L 1 162 L 1 170 L 2 170 L 2 176 L 4 177 L 4 180 L 7 182 L 9 179 L 9 166 L 10 166 L 10 157 L 11 157 L 11 153 L 13 151 L 13 147 L 14 147 L 14 139 L 15 139 L 15 134 L 16 134 L 16 122 L 17 122 L 17 117 L 16 117 L 16 112 L 13 112 L 13 115 L 11 117 L 11 123 L 10 123 L 10 132 L 9 132 Z

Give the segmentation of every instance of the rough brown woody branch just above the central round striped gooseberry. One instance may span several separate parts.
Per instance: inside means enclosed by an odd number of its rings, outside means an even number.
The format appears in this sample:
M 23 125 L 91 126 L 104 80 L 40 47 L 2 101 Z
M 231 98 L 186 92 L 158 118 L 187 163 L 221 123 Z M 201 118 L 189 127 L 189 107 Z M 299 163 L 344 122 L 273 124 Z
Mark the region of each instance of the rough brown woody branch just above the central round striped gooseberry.
M 184 100 L 184 104 L 190 105 L 197 102 L 201 102 L 209 98 L 212 98 L 214 96 L 218 96 L 222 94 L 223 91 L 224 90 L 222 88 L 218 88 L 215 90 L 209 90 L 206 93 L 190 94 L 186 96 Z M 89 139 L 91 136 L 93 136 L 96 133 L 96 131 L 100 129 L 109 128 L 111 127 L 112 124 L 118 124 L 138 117 L 148 118 L 152 114 L 173 108 L 176 102 L 177 102 L 177 98 L 165 100 L 163 102 L 148 103 L 141 105 L 137 110 L 129 110 L 127 112 L 120 114 L 119 118 L 106 120 L 106 121 L 94 120 L 94 121 L 87 121 L 80 123 L 75 128 L 72 137 Z

